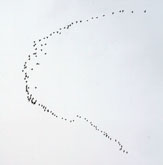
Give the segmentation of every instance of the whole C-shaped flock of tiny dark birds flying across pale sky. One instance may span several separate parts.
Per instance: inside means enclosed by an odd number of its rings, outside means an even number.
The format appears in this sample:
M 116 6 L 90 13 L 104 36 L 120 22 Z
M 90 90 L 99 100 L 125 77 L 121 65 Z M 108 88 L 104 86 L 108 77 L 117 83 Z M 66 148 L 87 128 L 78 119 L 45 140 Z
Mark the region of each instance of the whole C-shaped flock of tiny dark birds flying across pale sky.
M 146 13 L 146 10 L 143 11 L 144 13 Z M 124 10 L 119 10 L 118 13 L 125 13 Z M 134 14 L 134 11 L 130 11 L 131 14 Z M 116 14 L 115 12 L 111 12 L 111 15 L 114 15 Z M 43 55 L 47 55 L 47 52 L 45 52 L 43 50 L 43 48 L 47 45 L 47 40 L 50 38 L 50 37 L 53 37 L 53 35 L 61 35 L 62 34 L 62 31 L 63 30 L 68 30 L 70 29 L 72 26 L 75 26 L 77 24 L 81 24 L 81 23 L 84 23 L 84 22 L 90 22 L 90 21 L 93 21 L 93 20 L 97 20 L 97 19 L 100 19 L 100 18 L 104 18 L 106 17 L 107 15 L 106 14 L 103 14 L 103 15 L 100 15 L 100 16 L 96 16 L 96 17 L 91 17 L 89 19 L 86 19 L 86 20 L 76 20 L 74 22 L 71 22 L 70 24 L 64 26 L 64 27 L 60 27 L 57 31 L 54 31 L 52 33 L 50 33 L 49 35 L 43 37 L 43 38 L 40 38 L 38 39 L 37 41 L 33 41 L 33 48 L 34 48 L 34 52 L 31 54 L 31 55 L 28 55 L 28 60 L 25 61 L 24 63 L 24 67 L 23 67 L 23 70 L 22 72 L 24 73 L 24 81 L 25 81 L 25 92 L 27 94 L 27 100 L 32 103 L 33 105 L 37 105 L 39 107 L 41 107 L 44 112 L 47 112 L 49 114 L 51 114 L 52 116 L 54 116 L 55 118 L 58 118 L 58 119 L 61 119 L 63 121 L 66 121 L 68 123 L 74 123 L 76 120 L 75 119 L 67 119 L 67 118 L 64 118 L 62 116 L 59 116 L 58 114 L 56 114 L 54 111 L 50 110 L 46 105 L 40 103 L 34 96 L 33 94 L 30 92 L 30 85 L 29 85 L 29 70 L 30 71 L 33 71 L 34 68 L 33 67 L 29 67 L 28 66 L 28 63 L 29 61 L 31 61 L 33 58 L 37 58 L 39 56 L 39 53 L 43 54 Z M 35 66 L 39 66 L 40 63 L 39 62 L 36 62 L 35 63 Z M 37 87 L 35 86 L 34 87 L 35 89 L 37 89 Z M 76 115 L 76 119 L 80 119 L 80 120 L 83 120 L 85 122 L 87 122 L 92 128 L 94 128 L 96 131 L 98 131 L 99 133 L 101 133 L 104 137 L 106 137 L 109 141 L 113 141 L 115 142 L 117 145 L 118 145 L 118 148 L 119 148 L 119 151 L 122 151 L 123 153 L 125 154 L 128 154 L 128 151 L 125 150 L 123 148 L 123 145 L 121 144 L 121 142 L 116 139 L 116 138 L 112 138 L 110 136 L 109 133 L 107 133 L 106 131 L 100 129 L 96 124 L 94 124 L 92 121 L 88 120 L 88 118 L 86 117 L 82 117 L 80 115 Z

